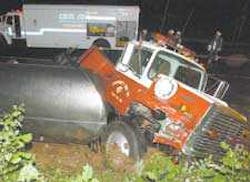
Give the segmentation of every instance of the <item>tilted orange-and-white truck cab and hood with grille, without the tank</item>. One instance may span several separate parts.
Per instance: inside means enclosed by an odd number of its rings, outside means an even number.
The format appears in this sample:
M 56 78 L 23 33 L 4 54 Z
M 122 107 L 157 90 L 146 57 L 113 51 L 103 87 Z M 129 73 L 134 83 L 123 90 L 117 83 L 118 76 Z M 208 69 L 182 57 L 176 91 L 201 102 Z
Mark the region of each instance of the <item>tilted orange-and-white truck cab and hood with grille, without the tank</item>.
M 79 62 L 99 78 L 112 112 L 137 123 L 151 142 L 198 157 L 223 155 L 221 142 L 249 149 L 247 118 L 218 98 L 228 84 L 219 81 L 206 93 L 209 75 L 192 52 L 183 54 L 187 52 L 159 42 L 132 41 L 116 66 L 96 48 Z

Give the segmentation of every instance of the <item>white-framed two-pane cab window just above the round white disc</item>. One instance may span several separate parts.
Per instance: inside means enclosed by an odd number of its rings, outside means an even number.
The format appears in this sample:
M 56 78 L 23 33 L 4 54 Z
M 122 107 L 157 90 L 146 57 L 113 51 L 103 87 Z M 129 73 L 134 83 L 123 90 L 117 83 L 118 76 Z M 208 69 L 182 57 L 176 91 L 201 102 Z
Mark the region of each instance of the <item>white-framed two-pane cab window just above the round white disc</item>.
M 149 70 L 149 78 L 154 78 L 157 74 L 164 74 L 174 77 L 176 80 L 185 83 L 191 87 L 200 88 L 202 79 L 202 70 L 174 54 L 159 51 Z

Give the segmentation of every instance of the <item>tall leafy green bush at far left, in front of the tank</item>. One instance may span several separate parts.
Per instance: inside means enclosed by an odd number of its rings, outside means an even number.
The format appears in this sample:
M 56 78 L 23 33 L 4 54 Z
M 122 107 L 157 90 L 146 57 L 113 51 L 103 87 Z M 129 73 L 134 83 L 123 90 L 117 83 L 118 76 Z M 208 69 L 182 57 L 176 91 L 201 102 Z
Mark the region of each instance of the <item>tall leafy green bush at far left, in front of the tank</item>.
M 24 107 L 13 106 L 0 120 L 0 181 L 29 182 L 41 180 L 33 165 L 32 155 L 25 152 L 25 145 L 32 140 L 31 134 L 21 132 Z

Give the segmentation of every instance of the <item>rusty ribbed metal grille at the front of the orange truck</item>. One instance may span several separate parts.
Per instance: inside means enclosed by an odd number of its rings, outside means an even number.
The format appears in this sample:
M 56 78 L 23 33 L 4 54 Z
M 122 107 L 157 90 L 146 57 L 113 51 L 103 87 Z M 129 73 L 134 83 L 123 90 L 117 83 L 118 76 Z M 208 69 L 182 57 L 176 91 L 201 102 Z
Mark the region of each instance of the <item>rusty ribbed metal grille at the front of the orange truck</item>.
M 214 105 L 191 134 L 184 153 L 197 157 L 222 156 L 225 151 L 220 147 L 221 142 L 232 147 L 244 146 L 249 150 L 249 132 L 247 121 L 237 117 L 229 108 Z

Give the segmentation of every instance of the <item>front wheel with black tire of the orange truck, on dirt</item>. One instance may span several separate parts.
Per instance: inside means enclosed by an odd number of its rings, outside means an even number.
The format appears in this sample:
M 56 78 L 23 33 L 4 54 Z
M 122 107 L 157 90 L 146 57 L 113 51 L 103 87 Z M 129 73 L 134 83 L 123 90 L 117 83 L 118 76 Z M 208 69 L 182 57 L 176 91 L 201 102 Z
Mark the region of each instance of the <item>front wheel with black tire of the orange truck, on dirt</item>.
M 109 152 L 111 146 L 115 145 L 122 154 L 134 160 L 139 160 L 146 152 L 146 145 L 145 142 L 141 142 L 143 140 L 140 138 L 140 133 L 125 122 L 109 123 L 101 139 L 106 152 Z

